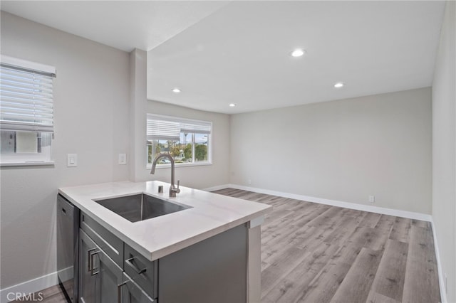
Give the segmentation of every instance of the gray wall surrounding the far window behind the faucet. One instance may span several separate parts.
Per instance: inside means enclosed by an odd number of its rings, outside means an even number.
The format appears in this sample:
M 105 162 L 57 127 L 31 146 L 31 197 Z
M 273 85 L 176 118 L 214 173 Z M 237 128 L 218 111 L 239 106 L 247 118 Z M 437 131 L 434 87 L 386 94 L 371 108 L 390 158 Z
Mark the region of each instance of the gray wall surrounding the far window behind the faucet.
M 180 179 L 182 186 L 192 188 L 210 188 L 229 183 L 229 115 L 215 112 L 192 110 L 187 107 L 170 105 L 153 100 L 147 101 L 147 112 L 150 114 L 197 119 L 212 122 L 212 164 L 200 166 L 176 166 L 176 181 Z M 144 129 L 145 132 L 145 129 Z M 145 134 L 144 134 L 145 135 Z M 146 169 L 146 156 L 142 161 L 141 181 L 160 180 L 170 183 L 170 169 L 156 169 L 150 174 Z

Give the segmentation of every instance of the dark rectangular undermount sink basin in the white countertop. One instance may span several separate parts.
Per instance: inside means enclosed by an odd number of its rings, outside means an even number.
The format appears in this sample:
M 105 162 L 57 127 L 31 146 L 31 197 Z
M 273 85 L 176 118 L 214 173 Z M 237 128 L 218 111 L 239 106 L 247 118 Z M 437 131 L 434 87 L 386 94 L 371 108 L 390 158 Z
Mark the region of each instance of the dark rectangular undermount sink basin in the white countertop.
M 147 220 L 190 208 L 190 206 L 182 206 L 145 193 L 93 201 L 130 222 Z

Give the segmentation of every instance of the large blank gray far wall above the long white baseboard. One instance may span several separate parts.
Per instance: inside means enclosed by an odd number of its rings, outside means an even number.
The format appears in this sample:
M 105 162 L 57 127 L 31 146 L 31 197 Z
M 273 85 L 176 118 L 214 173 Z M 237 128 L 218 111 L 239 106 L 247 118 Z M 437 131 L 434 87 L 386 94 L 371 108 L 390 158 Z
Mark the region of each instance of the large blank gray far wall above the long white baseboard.
M 232 184 L 431 213 L 429 87 L 232 115 L 231 141 Z

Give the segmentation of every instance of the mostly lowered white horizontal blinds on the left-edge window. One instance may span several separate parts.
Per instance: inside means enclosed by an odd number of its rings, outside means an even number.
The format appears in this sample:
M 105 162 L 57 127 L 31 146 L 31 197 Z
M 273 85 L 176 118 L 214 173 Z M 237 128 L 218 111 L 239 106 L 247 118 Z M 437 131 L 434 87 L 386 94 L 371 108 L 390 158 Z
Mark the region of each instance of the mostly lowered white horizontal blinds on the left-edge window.
M 1 129 L 53 132 L 53 77 L 55 76 L 55 68 L 2 55 Z

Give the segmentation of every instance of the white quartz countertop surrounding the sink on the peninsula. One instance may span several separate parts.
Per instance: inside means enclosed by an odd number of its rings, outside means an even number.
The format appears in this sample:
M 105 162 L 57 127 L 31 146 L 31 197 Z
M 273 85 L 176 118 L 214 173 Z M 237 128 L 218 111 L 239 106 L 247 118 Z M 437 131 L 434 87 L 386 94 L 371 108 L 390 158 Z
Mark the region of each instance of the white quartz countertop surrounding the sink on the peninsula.
M 164 187 L 163 193 L 158 193 L 159 185 Z M 170 184 L 160 181 L 123 181 L 63 187 L 58 188 L 58 192 L 151 261 L 261 218 L 271 210 L 271 206 L 263 203 L 185 186 L 180 187 L 175 198 L 169 198 L 169 187 Z M 93 201 L 135 193 L 147 193 L 191 208 L 132 223 Z

